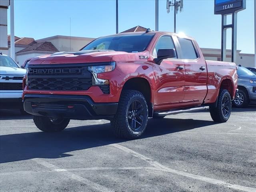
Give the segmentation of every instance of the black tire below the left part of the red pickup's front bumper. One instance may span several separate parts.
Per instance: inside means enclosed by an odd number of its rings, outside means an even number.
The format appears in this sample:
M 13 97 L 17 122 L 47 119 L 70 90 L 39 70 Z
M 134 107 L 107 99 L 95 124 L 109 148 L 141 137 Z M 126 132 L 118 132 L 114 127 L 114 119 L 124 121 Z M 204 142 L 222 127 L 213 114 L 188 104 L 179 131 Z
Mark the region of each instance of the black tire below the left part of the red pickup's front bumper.
M 59 123 L 53 123 L 50 118 L 42 116 L 33 116 L 36 127 L 44 132 L 60 132 L 68 126 L 69 119 L 61 119 Z

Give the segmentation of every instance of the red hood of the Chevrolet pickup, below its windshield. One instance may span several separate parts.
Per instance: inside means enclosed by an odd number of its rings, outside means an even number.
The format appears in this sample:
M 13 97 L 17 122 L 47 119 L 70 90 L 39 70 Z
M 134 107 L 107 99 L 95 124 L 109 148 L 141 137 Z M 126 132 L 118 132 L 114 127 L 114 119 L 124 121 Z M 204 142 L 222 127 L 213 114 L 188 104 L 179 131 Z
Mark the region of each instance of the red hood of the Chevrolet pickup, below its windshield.
M 77 52 L 57 52 L 51 55 L 38 56 L 30 60 L 30 64 L 73 64 L 110 62 L 111 58 L 120 54 L 134 54 L 116 52 L 113 50 L 82 50 Z

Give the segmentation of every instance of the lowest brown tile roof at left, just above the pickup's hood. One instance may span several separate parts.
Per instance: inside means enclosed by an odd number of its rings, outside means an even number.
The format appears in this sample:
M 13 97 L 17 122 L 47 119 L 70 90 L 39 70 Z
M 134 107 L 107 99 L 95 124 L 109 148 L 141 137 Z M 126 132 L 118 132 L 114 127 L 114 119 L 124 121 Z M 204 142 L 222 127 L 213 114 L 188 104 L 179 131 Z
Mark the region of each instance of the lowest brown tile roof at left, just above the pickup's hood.
M 21 52 L 26 52 L 26 51 L 50 51 L 50 52 L 58 52 L 59 50 L 54 47 L 54 45 L 51 42 L 41 42 L 41 43 L 34 43 L 20 51 L 18 51 L 17 53 L 21 53 Z

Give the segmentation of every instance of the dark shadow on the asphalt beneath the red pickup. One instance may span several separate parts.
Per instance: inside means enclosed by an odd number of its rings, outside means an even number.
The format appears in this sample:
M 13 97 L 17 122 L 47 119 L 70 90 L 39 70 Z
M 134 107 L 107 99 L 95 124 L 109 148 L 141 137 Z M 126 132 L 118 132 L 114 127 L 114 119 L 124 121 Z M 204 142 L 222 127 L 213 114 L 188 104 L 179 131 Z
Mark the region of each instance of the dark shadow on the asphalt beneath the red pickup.
M 150 119 L 142 138 L 172 134 L 215 124 L 192 119 Z M 83 150 L 127 140 L 114 137 L 110 124 L 78 126 L 58 133 L 31 132 L 0 136 L 0 163 L 32 158 L 62 158 Z

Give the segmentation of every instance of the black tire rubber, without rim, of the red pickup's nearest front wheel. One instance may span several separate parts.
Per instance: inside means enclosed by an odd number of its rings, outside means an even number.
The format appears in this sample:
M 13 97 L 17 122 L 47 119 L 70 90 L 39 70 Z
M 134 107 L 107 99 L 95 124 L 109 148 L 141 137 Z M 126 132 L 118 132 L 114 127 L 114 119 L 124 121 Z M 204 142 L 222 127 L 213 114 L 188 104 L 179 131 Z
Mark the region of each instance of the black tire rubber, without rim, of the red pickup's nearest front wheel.
M 138 131 L 132 130 L 129 124 L 130 116 L 128 115 L 128 112 L 130 106 L 134 101 L 139 101 L 140 104 L 143 106 L 143 121 L 140 126 L 140 130 Z M 144 95 L 137 90 L 124 90 L 121 94 L 120 101 L 118 103 L 118 110 L 116 112 L 116 115 L 111 120 L 111 125 L 113 126 L 115 136 L 118 138 L 125 139 L 139 138 L 146 130 L 147 123 L 148 105 Z

